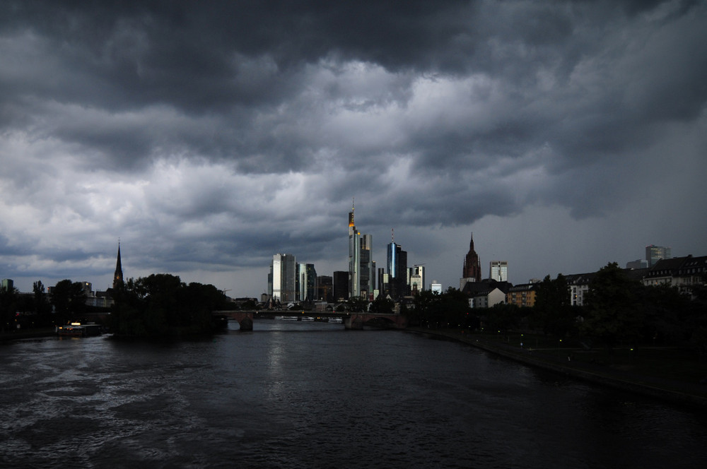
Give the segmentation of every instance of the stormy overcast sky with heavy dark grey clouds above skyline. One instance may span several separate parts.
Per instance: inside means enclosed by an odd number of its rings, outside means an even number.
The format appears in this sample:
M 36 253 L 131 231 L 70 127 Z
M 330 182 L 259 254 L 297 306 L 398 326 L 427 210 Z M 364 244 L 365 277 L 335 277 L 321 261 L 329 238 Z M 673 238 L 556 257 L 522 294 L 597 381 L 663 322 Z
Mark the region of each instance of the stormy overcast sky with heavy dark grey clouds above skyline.
M 707 255 L 703 1 L 3 1 L 0 278 Z

